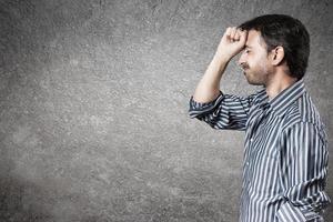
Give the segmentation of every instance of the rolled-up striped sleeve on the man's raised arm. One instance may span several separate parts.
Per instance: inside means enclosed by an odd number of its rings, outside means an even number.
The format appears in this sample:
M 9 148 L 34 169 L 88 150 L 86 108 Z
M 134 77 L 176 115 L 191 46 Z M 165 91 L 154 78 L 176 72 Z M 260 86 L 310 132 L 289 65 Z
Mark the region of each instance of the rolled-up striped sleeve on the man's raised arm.
M 189 114 L 191 119 L 204 121 L 213 129 L 244 131 L 254 95 L 242 98 L 220 91 L 216 99 L 205 103 L 194 101 L 192 95 Z

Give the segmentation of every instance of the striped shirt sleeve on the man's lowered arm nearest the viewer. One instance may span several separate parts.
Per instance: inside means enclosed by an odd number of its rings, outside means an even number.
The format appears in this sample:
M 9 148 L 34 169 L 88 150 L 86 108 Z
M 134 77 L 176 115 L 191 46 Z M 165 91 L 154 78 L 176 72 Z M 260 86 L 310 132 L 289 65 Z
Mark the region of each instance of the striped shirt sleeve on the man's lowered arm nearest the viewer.
M 326 134 L 315 124 L 300 122 L 282 133 L 280 152 L 284 203 L 279 222 L 323 222 L 323 209 L 331 202 L 324 192 L 327 173 Z

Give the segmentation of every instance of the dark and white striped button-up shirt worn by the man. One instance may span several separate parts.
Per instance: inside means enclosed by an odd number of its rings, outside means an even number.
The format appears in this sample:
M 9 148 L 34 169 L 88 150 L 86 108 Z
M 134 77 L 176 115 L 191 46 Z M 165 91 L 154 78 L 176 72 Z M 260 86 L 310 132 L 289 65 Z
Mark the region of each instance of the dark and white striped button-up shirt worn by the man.
M 303 79 L 271 101 L 265 88 L 249 97 L 190 99 L 190 118 L 213 129 L 245 131 L 240 222 L 319 222 L 325 193 L 327 134 Z

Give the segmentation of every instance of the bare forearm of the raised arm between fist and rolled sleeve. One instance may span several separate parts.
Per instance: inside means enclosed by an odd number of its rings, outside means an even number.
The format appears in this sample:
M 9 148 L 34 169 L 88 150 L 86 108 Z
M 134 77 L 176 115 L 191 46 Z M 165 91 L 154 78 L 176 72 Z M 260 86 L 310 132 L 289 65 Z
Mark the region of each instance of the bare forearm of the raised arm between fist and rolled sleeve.
M 193 99 L 196 102 L 210 102 L 220 93 L 220 81 L 230 59 L 214 56 L 204 75 L 196 85 Z

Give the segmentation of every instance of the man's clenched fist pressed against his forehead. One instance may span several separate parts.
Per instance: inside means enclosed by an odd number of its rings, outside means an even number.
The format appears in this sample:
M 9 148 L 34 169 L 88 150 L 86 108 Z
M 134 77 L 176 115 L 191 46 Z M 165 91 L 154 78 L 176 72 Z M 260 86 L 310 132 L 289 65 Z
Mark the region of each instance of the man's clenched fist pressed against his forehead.
M 230 61 L 234 56 L 240 53 L 245 46 L 248 31 L 241 31 L 236 27 L 229 27 L 218 47 L 215 57 Z

